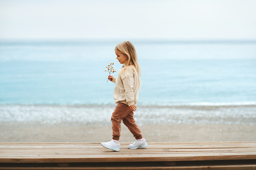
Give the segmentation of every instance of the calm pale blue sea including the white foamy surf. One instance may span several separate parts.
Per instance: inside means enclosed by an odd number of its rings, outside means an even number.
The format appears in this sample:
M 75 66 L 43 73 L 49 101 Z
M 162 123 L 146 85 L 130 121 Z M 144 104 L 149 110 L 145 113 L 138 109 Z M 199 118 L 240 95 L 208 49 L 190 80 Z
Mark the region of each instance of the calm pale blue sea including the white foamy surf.
M 114 51 L 120 42 L 0 41 L 0 122 L 97 124 L 95 117 L 104 112 L 101 123 L 106 122 L 115 108 L 115 84 L 107 82 L 109 73 L 105 70 L 114 63 L 117 72 L 111 75 L 117 76 L 121 69 Z M 141 111 L 136 112 L 144 116 L 142 124 L 184 123 L 192 119 L 160 121 L 154 115 L 200 115 L 199 110 L 207 114 L 212 107 L 221 110 L 218 115 L 249 114 L 249 123 L 256 124 L 256 41 L 132 43 L 141 67 L 142 86 L 136 104 Z M 224 106 L 228 107 L 223 111 Z M 193 112 L 195 107 L 198 111 Z M 50 118 L 57 113 L 62 117 Z

